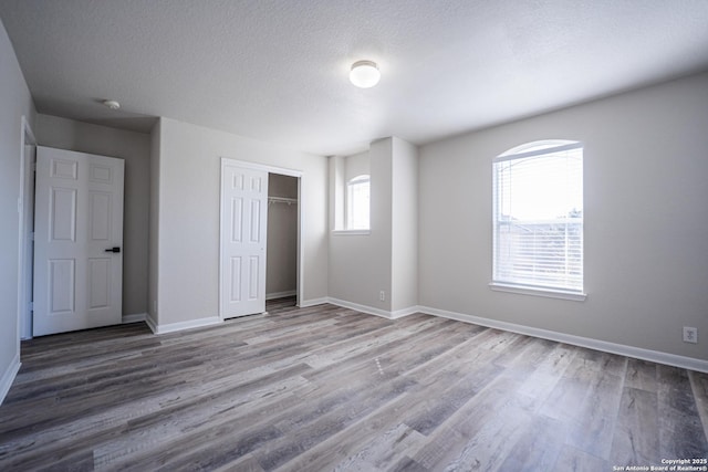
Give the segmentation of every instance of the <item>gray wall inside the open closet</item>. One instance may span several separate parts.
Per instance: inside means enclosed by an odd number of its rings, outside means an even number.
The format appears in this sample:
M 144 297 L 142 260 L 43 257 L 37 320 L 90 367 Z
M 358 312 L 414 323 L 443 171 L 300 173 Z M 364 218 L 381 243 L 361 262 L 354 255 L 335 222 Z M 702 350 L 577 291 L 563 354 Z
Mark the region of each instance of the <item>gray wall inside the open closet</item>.
M 298 178 L 268 175 L 268 196 L 298 199 Z M 268 203 L 266 296 L 298 289 L 298 204 Z

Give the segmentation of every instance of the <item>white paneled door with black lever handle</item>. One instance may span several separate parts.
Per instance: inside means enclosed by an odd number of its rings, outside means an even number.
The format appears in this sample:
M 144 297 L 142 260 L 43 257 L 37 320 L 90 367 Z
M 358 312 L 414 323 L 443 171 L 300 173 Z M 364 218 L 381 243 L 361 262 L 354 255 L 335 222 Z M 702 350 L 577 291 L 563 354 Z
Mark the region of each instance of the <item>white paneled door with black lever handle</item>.
M 37 148 L 34 336 L 121 323 L 123 179 L 123 159 Z

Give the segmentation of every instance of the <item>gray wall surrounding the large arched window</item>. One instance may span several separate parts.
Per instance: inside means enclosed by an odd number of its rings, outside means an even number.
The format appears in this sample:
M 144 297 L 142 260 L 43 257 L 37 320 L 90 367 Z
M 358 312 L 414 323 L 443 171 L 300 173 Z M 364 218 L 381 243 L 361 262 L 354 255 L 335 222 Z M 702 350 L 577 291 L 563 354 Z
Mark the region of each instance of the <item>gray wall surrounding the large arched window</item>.
M 584 144 L 585 302 L 488 286 L 492 158 L 549 138 Z M 708 359 L 707 149 L 706 73 L 424 146 L 420 305 Z

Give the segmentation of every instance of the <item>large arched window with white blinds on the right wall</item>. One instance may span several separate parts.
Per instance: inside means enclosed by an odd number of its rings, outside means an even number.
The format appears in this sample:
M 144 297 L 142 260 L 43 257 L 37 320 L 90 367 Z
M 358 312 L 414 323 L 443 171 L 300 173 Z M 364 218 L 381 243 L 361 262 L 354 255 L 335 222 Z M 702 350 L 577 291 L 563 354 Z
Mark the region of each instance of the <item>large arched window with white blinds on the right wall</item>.
M 583 147 L 537 141 L 493 161 L 492 286 L 583 293 Z

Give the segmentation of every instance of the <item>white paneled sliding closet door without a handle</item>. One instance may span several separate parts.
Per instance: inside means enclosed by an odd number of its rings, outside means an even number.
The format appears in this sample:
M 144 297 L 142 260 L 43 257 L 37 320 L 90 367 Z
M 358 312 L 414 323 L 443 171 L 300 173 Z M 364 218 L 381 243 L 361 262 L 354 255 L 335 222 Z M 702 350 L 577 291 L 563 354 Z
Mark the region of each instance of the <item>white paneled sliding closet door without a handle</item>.
M 266 311 L 268 172 L 221 166 L 221 317 Z

